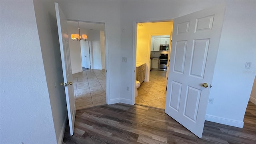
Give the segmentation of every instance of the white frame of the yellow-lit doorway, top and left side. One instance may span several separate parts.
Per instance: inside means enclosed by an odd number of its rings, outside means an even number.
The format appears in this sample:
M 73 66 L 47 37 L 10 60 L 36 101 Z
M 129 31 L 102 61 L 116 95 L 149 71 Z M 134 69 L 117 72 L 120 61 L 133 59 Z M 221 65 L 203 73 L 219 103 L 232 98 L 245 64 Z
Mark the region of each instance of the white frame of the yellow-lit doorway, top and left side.
M 142 22 L 172 22 L 174 18 L 172 19 L 150 19 L 150 20 L 138 20 L 133 21 L 133 48 L 132 48 L 132 104 L 135 104 L 135 80 L 136 80 L 136 50 L 137 50 L 137 24 Z M 150 35 L 151 39 L 151 35 Z M 148 56 L 150 56 L 150 49 L 148 52 Z M 149 80 L 149 77 L 148 77 Z

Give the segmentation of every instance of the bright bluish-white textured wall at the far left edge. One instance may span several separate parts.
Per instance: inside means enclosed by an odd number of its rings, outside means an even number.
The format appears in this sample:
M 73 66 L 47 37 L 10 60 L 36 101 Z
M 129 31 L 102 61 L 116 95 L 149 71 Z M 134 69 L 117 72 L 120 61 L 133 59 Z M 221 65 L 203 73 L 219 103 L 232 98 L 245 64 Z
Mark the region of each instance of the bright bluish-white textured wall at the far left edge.
M 56 143 L 33 1 L 0 6 L 0 143 Z

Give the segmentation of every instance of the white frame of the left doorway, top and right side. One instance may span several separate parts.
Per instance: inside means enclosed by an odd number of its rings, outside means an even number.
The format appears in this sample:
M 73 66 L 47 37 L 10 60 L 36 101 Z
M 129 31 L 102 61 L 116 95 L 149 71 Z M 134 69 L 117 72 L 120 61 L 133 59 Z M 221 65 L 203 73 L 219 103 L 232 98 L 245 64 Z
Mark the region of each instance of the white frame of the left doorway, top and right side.
M 105 21 L 102 21 L 102 20 L 95 20 L 95 21 L 85 21 L 85 20 L 72 20 L 72 19 L 68 19 L 68 21 L 74 21 L 74 22 L 77 22 L 77 21 L 79 21 L 79 22 L 89 22 L 89 23 L 98 23 L 98 24 L 105 24 L 105 30 L 104 30 L 104 34 L 105 34 L 105 66 L 106 66 L 106 71 L 107 70 L 109 70 L 109 53 L 108 53 L 108 51 L 109 51 L 109 48 L 108 48 L 108 36 L 106 35 L 106 34 L 108 34 L 108 23 L 107 22 L 105 22 Z M 88 40 L 89 41 L 89 45 L 91 46 L 91 42 L 90 42 L 90 40 Z M 90 47 L 90 54 L 91 54 L 91 58 L 90 58 L 90 60 L 91 60 L 91 62 L 92 62 L 92 53 L 91 53 L 92 51 L 91 51 L 91 47 Z M 92 63 L 91 63 L 91 68 L 93 68 L 92 67 Z M 108 72 L 106 72 L 106 103 L 107 104 L 110 104 L 110 92 L 109 92 L 109 86 L 110 86 L 110 84 L 109 84 L 109 82 L 110 82 L 110 80 L 109 80 L 109 73 Z M 135 81 L 134 81 L 134 84 L 135 84 Z M 134 85 L 135 86 L 135 85 Z

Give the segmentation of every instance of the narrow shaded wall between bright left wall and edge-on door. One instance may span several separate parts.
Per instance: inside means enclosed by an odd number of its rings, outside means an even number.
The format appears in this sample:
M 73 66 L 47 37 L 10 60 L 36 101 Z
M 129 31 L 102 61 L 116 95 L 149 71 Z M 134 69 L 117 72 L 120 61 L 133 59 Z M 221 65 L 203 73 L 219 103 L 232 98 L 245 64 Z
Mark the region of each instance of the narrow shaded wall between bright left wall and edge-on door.
M 60 86 L 63 74 L 54 2 L 34 1 L 34 9 L 56 140 L 62 143 L 68 113 L 64 86 Z

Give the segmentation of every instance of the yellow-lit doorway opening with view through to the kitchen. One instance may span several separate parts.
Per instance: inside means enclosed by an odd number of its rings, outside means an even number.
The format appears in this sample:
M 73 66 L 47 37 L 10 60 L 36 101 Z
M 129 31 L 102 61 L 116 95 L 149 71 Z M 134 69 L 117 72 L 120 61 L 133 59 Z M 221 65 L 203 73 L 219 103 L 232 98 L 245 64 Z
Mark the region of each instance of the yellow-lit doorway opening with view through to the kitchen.
M 166 68 L 159 67 L 160 55 L 169 59 L 170 51 L 160 50 L 160 41 L 170 46 L 173 22 L 146 22 L 137 24 L 136 63 L 145 63 L 145 80 L 141 81 L 135 103 L 164 109 L 166 100 Z M 154 40 L 155 38 L 155 40 Z M 168 42 L 167 42 L 168 41 Z M 162 43 L 161 43 L 162 44 Z M 153 46 L 156 47 L 153 49 Z M 163 61 L 163 60 L 162 60 Z M 137 67 L 136 67 L 137 69 Z M 137 74 L 137 72 L 136 72 Z M 138 76 L 136 76 L 137 78 Z M 141 77 L 141 76 L 140 76 Z

